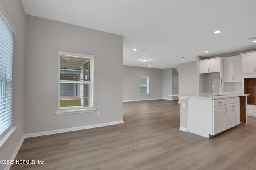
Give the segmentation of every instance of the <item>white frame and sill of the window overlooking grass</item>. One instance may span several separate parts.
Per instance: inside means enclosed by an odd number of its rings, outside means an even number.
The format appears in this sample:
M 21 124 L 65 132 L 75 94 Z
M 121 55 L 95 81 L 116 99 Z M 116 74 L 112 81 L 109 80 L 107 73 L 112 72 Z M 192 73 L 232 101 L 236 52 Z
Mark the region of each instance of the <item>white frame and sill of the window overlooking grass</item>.
M 79 58 L 87 58 L 90 59 L 90 81 L 84 83 L 84 81 L 69 81 L 69 80 L 60 80 L 60 56 L 68 56 L 68 57 L 79 57 Z M 90 54 L 82 54 L 82 53 L 72 53 L 66 51 L 58 51 L 58 109 L 55 112 L 55 115 L 65 115 L 65 114 L 74 114 L 74 113 L 86 113 L 86 112 L 94 112 L 96 109 L 94 108 L 94 55 Z M 72 108 L 60 108 L 60 83 L 83 83 L 90 84 L 90 96 L 89 96 L 89 107 L 72 107 Z

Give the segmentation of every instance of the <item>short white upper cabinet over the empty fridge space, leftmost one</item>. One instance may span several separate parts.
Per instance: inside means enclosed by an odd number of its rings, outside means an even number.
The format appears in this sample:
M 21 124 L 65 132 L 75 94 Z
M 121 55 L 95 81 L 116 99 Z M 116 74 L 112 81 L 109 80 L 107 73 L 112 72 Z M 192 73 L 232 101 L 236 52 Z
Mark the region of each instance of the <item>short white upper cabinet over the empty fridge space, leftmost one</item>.
M 220 58 L 199 61 L 199 73 L 220 72 Z

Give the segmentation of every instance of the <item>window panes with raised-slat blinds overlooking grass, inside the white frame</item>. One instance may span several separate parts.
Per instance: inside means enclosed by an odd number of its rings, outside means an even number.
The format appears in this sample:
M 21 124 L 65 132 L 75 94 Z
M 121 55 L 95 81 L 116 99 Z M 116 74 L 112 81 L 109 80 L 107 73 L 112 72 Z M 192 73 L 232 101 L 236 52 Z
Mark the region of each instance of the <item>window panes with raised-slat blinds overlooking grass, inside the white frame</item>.
M 93 107 L 93 62 L 90 57 L 59 55 L 59 109 Z

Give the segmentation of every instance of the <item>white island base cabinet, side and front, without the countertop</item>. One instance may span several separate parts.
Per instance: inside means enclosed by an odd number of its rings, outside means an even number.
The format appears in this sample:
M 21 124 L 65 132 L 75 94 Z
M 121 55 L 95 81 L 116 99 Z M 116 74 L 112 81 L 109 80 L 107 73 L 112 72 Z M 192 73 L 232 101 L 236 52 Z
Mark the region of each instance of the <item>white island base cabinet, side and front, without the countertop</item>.
M 211 135 L 216 135 L 239 125 L 239 102 L 239 97 L 221 99 L 188 98 L 186 103 L 186 130 L 209 138 Z

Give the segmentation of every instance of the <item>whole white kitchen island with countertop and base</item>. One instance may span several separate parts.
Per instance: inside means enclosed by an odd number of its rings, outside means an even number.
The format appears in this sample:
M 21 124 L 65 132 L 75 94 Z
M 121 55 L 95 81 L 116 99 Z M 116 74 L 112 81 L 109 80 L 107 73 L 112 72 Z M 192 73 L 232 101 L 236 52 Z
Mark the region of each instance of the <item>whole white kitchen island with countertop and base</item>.
M 247 123 L 248 94 L 179 94 L 180 130 L 212 137 L 242 123 Z M 245 100 L 242 100 L 242 99 Z M 241 104 L 240 104 L 241 100 Z M 240 106 L 244 113 L 240 115 Z

